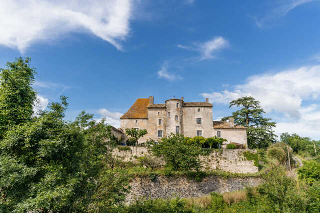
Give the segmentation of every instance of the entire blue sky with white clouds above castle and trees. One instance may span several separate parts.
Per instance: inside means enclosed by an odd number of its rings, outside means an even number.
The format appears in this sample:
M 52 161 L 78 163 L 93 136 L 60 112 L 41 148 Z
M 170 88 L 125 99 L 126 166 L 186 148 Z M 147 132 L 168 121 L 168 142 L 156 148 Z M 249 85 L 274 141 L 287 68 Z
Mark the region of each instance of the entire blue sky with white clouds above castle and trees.
M 0 67 L 32 57 L 41 107 L 69 97 L 119 126 L 137 98 L 252 95 L 276 132 L 320 139 L 318 0 L 2 0 Z

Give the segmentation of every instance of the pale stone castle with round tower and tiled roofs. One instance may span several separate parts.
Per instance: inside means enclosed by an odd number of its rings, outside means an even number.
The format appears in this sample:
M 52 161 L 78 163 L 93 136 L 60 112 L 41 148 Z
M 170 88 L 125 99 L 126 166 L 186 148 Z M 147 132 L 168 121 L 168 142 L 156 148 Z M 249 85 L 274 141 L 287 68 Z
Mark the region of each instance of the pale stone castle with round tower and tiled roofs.
M 233 118 L 229 122 L 213 121 L 212 107 L 208 99 L 205 102 L 184 102 L 182 97 L 155 104 L 153 96 L 139 98 L 120 118 L 121 129 L 146 129 L 148 134 L 140 138 L 139 143 L 179 133 L 188 137 L 225 138 L 227 142 L 223 147 L 228 143 L 238 148 L 247 147 L 246 127 L 234 125 Z

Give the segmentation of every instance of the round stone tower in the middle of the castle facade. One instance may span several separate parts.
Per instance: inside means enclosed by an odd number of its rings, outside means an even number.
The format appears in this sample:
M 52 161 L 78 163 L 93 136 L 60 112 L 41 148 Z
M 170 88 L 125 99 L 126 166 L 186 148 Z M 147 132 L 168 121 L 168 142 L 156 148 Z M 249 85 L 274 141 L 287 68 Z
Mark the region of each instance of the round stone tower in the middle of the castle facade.
M 183 135 L 183 100 L 169 99 L 166 104 L 166 134 L 178 133 Z

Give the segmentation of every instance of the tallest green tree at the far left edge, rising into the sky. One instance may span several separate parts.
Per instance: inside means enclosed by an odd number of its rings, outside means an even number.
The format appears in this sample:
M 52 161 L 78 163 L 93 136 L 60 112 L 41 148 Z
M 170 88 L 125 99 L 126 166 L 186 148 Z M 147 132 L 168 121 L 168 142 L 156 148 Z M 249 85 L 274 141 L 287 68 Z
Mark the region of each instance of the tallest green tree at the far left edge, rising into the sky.
M 0 139 L 12 125 L 32 119 L 36 92 L 32 88 L 35 71 L 30 58 L 17 58 L 0 69 Z

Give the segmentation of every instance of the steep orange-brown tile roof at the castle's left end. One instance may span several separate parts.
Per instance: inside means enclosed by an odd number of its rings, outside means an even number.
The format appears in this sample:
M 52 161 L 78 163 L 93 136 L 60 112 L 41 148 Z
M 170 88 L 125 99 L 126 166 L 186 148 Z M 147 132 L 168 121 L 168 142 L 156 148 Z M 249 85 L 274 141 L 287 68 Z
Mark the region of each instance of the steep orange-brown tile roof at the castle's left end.
M 130 109 L 122 115 L 120 119 L 124 118 L 148 118 L 148 109 L 149 105 L 148 98 L 138 98 Z

